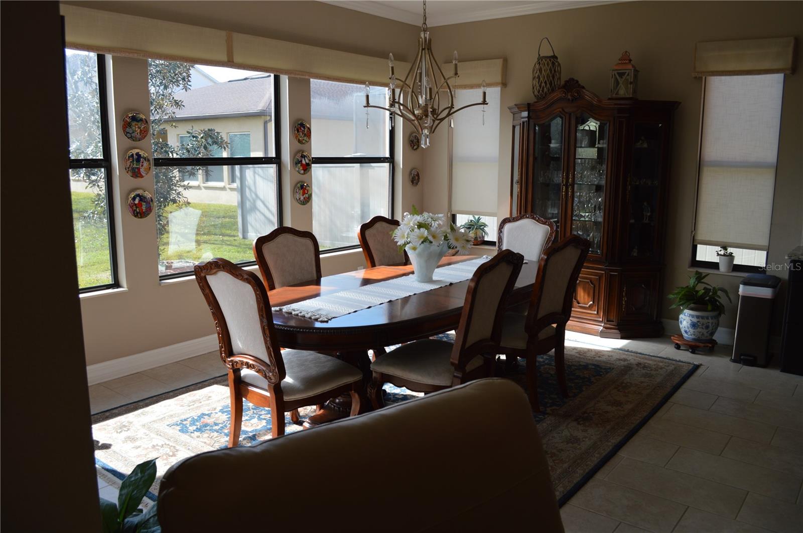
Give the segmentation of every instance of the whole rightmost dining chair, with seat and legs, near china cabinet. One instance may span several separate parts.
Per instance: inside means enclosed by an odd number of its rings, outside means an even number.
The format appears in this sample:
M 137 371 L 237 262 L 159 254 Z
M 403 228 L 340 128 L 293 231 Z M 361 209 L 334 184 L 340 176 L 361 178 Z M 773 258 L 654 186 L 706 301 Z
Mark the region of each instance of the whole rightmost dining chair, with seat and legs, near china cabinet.
M 508 311 L 503 317 L 499 353 L 527 360 L 527 388 L 534 411 L 540 411 L 536 359 L 552 350 L 560 393 L 569 397 L 564 360 L 566 323 L 572 315 L 572 297 L 589 246 L 589 241 L 577 235 L 549 246 L 538 265 L 527 314 Z

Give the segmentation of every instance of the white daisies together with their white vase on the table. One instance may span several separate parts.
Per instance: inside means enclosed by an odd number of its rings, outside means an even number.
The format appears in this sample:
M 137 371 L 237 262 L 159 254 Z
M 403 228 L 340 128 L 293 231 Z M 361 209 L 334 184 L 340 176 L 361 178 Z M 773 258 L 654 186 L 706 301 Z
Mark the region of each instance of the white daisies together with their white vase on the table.
M 399 250 L 405 250 L 413 263 L 415 280 L 432 281 L 438 262 L 450 249 L 467 254 L 471 238 L 465 231 L 446 222 L 446 215 L 419 213 L 413 205 L 412 213 L 405 213 L 402 223 L 393 230 L 393 240 Z

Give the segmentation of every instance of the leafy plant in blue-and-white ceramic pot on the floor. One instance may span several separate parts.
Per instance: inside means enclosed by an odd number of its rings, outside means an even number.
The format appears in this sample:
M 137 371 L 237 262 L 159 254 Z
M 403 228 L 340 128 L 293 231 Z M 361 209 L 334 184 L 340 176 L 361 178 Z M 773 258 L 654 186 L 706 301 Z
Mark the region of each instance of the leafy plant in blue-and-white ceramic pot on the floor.
M 707 277 L 707 274 L 695 271 L 689 278 L 688 285 L 677 287 L 669 294 L 669 298 L 675 300 L 670 309 L 680 307 L 683 310 L 678 322 L 680 332 L 686 340 L 711 341 L 719 328 L 719 316 L 725 314 L 722 295 L 728 298 L 728 302 L 732 302 L 724 288 L 714 287 L 703 281 Z

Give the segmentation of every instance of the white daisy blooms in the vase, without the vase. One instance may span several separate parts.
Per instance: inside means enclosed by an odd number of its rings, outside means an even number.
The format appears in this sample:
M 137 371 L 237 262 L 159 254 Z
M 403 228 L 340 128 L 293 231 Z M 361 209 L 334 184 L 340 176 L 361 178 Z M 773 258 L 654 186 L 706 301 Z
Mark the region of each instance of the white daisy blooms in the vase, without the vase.
M 405 213 L 402 223 L 393 231 L 393 240 L 399 250 L 408 254 L 418 251 L 421 246 L 439 247 L 443 244 L 459 254 L 467 254 L 472 239 L 469 235 L 446 220 L 444 214 L 419 213 L 413 205 L 412 213 Z

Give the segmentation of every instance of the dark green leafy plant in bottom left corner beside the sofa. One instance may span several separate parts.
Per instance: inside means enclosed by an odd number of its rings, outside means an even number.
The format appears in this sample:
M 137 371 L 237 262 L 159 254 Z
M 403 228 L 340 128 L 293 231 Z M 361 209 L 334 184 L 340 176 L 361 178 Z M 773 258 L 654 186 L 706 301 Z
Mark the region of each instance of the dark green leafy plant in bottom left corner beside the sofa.
M 156 503 L 142 511 L 140 503 L 156 479 L 156 459 L 141 462 L 120 483 L 117 502 L 100 498 L 103 533 L 161 533 Z

